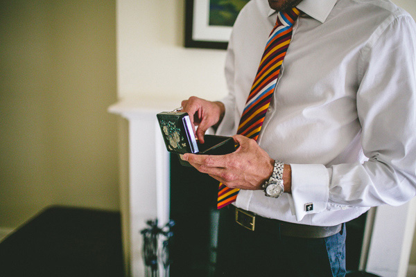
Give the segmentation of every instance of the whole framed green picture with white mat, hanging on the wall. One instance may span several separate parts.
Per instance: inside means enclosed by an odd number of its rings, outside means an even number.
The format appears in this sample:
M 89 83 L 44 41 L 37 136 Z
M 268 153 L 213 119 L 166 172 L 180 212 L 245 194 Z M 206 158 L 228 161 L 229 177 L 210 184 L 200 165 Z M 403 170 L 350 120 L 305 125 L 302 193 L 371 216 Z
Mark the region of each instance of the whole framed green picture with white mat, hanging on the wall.
M 186 0 L 185 47 L 227 49 L 232 26 L 249 0 Z

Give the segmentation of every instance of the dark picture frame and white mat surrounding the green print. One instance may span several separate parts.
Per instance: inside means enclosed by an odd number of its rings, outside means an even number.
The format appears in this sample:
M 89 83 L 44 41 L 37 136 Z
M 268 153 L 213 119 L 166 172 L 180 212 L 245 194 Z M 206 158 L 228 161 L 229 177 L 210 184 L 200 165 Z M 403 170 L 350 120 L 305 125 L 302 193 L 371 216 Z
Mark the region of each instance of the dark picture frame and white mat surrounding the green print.
M 210 0 L 185 1 L 185 47 L 227 49 L 232 26 L 209 25 L 209 14 Z

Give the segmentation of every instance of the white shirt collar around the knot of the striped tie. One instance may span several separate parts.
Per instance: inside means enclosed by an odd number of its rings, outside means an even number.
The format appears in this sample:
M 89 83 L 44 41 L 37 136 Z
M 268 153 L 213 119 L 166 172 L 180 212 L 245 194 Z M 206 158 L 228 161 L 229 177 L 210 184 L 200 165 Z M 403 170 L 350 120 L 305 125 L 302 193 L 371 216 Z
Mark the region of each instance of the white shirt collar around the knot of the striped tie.
M 310 17 L 324 23 L 327 20 L 329 12 L 335 6 L 337 0 L 303 0 L 296 7 L 302 10 Z M 269 7 L 270 8 L 270 7 Z M 270 8 L 268 16 L 273 15 L 276 11 Z

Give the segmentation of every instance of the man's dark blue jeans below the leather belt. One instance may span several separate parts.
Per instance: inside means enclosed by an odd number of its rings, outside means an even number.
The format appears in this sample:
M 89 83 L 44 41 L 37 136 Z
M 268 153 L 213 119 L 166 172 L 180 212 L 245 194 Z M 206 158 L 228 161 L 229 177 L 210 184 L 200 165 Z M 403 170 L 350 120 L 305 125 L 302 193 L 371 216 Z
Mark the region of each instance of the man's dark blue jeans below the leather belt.
M 345 224 L 328 238 L 294 238 L 245 229 L 223 208 L 218 229 L 216 276 L 345 276 Z

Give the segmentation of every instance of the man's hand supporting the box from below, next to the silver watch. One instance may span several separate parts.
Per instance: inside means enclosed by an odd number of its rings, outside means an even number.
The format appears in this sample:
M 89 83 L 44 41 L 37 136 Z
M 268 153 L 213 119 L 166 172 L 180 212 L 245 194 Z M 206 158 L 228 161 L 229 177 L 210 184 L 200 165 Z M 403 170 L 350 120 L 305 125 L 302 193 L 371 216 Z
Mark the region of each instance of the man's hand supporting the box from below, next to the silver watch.
M 261 189 L 272 175 L 275 161 L 253 139 L 241 135 L 235 135 L 233 139 L 240 147 L 231 154 L 184 154 L 184 160 L 229 188 Z

